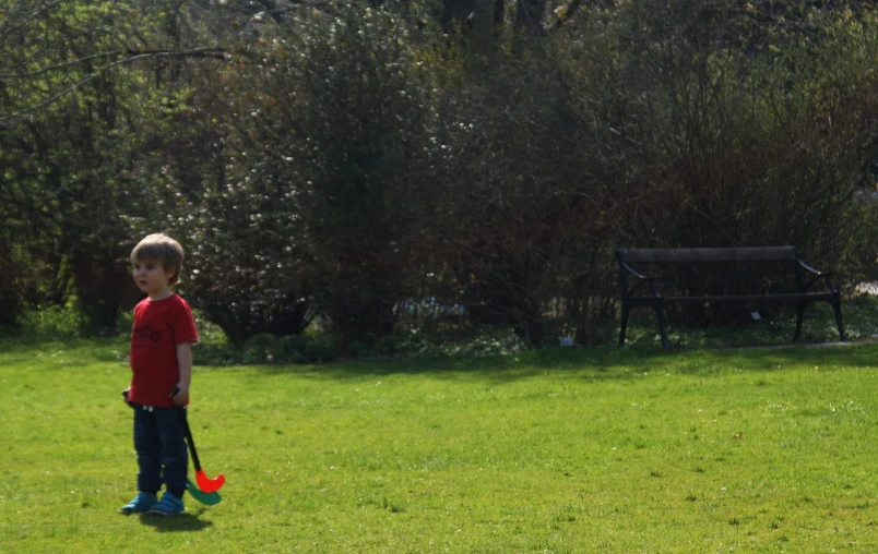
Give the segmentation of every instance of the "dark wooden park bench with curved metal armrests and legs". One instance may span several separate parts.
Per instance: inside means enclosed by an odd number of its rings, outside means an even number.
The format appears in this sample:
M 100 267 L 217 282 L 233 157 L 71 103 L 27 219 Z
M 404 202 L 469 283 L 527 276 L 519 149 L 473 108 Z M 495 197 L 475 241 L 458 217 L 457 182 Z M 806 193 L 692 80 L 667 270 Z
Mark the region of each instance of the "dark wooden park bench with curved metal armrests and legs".
M 841 296 L 830 273 L 818 272 L 798 256 L 796 246 L 710 249 L 618 249 L 621 284 L 621 328 L 625 344 L 628 316 L 637 306 L 655 311 L 662 345 L 668 349 L 665 306 L 716 302 L 796 302 L 796 333 L 802 333 L 805 308 L 827 301 L 835 312 L 844 341 Z M 788 285 L 794 278 L 794 284 Z M 783 285 L 787 284 L 784 288 Z M 820 290 L 812 290 L 817 284 Z

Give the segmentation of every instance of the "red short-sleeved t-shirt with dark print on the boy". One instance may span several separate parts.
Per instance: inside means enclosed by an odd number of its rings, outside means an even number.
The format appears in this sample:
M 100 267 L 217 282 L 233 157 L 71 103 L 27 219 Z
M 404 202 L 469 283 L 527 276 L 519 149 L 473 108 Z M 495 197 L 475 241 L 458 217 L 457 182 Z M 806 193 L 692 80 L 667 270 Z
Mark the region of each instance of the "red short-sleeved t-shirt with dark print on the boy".
M 197 342 L 192 310 L 171 294 L 162 300 L 144 299 L 134 308 L 131 332 L 131 389 L 128 400 L 144 406 L 174 408 L 168 396 L 180 381 L 177 345 Z

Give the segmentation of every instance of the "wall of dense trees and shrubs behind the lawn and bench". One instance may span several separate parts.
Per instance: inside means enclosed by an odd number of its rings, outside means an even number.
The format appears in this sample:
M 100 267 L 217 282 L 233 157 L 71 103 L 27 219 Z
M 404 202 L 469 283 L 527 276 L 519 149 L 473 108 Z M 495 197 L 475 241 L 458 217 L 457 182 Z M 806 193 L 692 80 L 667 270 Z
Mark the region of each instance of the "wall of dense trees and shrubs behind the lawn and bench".
M 877 31 L 855 1 L 3 0 L 0 326 L 115 333 L 154 231 L 237 346 L 600 342 L 618 246 L 796 244 L 851 290 Z

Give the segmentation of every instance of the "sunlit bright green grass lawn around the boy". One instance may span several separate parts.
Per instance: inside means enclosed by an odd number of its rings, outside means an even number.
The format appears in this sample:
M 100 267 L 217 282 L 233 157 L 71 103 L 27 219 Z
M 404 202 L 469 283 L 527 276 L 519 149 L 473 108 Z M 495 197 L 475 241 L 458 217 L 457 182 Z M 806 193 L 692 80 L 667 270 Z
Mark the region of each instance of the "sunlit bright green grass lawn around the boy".
M 126 349 L 0 342 L 0 552 L 878 550 L 878 345 L 198 366 L 177 518 L 117 514 Z

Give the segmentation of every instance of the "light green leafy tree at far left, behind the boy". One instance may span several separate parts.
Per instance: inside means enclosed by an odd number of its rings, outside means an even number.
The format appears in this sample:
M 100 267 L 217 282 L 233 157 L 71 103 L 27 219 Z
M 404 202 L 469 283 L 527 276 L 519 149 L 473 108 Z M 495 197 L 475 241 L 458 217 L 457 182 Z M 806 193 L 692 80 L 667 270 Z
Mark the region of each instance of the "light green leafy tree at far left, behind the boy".
M 9 1 L 3 13 L 0 194 L 20 214 L 7 233 L 27 238 L 22 261 L 54 258 L 49 288 L 69 279 L 93 325 L 112 329 L 135 293 L 124 216 L 143 214 L 139 160 L 167 131 L 182 60 L 222 53 L 183 51 L 178 2 Z

